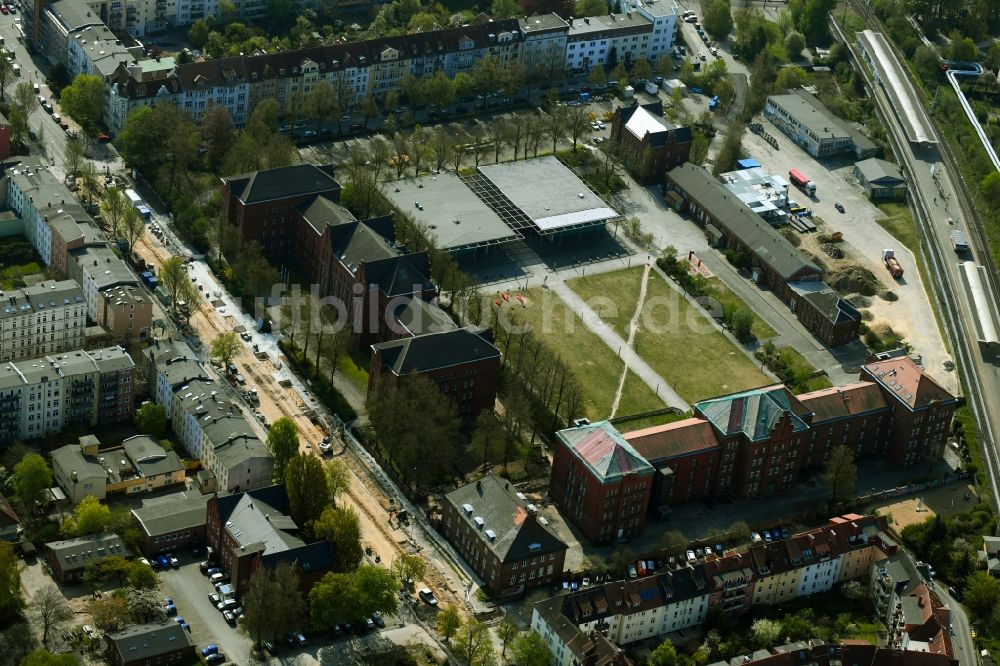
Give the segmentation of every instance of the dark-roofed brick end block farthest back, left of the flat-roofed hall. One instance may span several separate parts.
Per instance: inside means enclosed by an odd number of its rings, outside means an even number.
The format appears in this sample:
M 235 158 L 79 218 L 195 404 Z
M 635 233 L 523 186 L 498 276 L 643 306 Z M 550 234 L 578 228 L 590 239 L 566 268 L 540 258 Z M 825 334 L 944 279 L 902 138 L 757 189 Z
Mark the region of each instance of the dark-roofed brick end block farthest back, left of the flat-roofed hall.
M 269 258 L 294 254 L 299 206 L 317 196 L 337 201 L 333 166 L 296 164 L 222 179 L 223 218 L 244 240 L 257 241 Z M 291 232 L 291 233 L 290 233 Z

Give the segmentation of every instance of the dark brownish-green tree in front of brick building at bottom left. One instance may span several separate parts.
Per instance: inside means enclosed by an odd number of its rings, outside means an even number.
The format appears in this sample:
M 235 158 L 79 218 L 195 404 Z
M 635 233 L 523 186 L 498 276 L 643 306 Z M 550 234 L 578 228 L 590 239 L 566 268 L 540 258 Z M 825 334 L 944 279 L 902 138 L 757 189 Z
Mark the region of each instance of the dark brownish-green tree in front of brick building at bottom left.
M 305 617 L 299 575 L 290 562 L 254 572 L 243 595 L 243 627 L 255 644 L 300 630 Z

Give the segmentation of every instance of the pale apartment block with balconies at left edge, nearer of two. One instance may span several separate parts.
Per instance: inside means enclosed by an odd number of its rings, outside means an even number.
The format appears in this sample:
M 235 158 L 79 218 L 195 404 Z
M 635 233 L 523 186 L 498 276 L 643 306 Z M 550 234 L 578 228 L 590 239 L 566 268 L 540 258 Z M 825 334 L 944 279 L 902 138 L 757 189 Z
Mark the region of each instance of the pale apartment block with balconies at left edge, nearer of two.
M 0 442 L 116 423 L 134 402 L 135 364 L 121 347 L 9 361 L 0 365 Z

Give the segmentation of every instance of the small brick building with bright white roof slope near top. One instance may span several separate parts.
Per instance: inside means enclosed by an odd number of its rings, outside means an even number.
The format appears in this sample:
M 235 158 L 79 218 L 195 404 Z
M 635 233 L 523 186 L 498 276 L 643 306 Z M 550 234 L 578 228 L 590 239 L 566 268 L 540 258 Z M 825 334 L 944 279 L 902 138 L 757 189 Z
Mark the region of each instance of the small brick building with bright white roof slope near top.
M 611 140 L 642 182 L 663 182 L 664 174 L 687 162 L 691 153 L 691 128 L 671 125 L 662 116 L 663 105 L 657 102 L 619 107 L 611 118 Z

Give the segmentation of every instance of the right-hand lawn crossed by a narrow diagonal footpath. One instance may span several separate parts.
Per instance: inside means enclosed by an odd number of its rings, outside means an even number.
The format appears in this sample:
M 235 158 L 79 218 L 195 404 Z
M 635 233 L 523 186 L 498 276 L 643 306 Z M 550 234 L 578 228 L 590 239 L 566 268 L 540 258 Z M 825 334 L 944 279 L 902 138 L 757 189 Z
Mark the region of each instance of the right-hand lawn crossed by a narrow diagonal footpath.
M 642 267 L 602 273 L 569 284 L 584 300 L 605 295 L 618 306 L 598 314 L 623 337 L 638 300 Z M 592 302 L 592 301 L 591 301 Z M 742 391 L 768 383 L 758 364 L 747 358 L 707 317 L 657 273 L 649 277 L 636 351 L 687 402 Z M 649 330 L 654 328 L 656 330 Z M 619 413 L 626 414 L 624 410 Z

